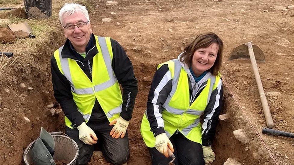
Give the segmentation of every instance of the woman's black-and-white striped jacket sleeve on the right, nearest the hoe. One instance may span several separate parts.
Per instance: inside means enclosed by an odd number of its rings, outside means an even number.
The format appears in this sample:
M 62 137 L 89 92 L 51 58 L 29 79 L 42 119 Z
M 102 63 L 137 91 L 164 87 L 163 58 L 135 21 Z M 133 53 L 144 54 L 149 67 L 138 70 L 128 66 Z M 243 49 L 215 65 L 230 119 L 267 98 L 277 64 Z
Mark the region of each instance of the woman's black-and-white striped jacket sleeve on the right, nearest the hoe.
M 202 124 L 202 145 L 211 146 L 214 139 L 215 128 L 218 123 L 218 116 L 222 108 L 223 86 L 222 80 L 217 84 L 217 88 L 211 93 L 210 100 L 204 110 Z

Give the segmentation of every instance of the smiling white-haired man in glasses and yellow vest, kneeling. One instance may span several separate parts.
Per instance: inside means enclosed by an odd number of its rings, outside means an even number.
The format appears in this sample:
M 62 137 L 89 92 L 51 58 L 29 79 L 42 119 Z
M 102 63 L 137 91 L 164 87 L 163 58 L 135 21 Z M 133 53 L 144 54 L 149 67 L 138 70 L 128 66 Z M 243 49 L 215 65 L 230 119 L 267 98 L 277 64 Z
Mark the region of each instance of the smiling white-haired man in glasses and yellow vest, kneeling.
M 67 40 L 51 58 L 52 83 L 66 134 L 80 148 L 76 164 L 89 162 L 97 142 L 107 161 L 126 163 L 138 93 L 132 63 L 117 41 L 92 33 L 85 6 L 65 4 L 59 18 Z

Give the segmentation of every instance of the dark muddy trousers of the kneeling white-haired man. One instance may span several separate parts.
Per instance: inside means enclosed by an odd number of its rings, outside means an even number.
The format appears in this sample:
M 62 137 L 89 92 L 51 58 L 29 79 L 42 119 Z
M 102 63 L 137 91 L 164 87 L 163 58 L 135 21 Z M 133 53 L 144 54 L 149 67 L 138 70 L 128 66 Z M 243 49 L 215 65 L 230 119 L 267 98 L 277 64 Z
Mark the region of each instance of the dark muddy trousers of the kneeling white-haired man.
M 112 138 L 109 133 L 113 126 L 109 126 L 107 119 L 99 123 L 89 121 L 87 126 L 97 135 L 97 144 L 99 143 L 101 145 L 103 156 L 108 162 L 112 164 L 124 164 L 129 160 L 130 148 L 128 133 L 126 133 L 124 138 Z M 80 154 L 77 158 L 76 165 L 86 165 L 92 157 L 94 146 L 87 145 L 79 139 L 79 130 L 77 128 L 70 129 L 66 127 L 65 133 L 79 146 Z

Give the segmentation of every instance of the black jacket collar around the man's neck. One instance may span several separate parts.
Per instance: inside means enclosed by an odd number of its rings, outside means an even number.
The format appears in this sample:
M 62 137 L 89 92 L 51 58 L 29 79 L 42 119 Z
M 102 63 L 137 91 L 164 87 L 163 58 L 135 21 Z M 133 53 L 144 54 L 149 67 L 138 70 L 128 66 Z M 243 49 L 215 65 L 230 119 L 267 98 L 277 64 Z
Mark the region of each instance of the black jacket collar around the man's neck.
M 97 53 L 98 53 L 98 50 L 96 47 L 96 39 L 95 39 L 95 35 L 92 33 L 89 43 L 86 47 L 86 58 L 83 58 L 80 54 L 78 54 L 74 50 L 73 45 L 69 41 L 69 39 L 65 41 L 64 47 L 61 51 L 61 57 L 70 58 L 70 59 L 79 60 L 79 61 L 88 61 L 88 60 L 91 60 Z

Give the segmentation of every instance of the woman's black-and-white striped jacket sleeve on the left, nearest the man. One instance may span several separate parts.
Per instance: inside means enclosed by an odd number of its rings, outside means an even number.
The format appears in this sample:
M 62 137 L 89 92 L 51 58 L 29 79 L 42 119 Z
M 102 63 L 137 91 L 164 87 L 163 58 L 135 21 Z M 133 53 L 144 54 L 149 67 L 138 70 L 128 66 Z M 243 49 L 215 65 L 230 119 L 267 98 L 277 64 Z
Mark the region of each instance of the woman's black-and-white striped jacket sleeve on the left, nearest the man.
M 171 85 L 171 72 L 168 65 L 164 64 L 155 72 L 147 101 L 147 118 L 154 136 L 165 133 L 161 112 L 164 110 L 163 104 L 171 91 Z

